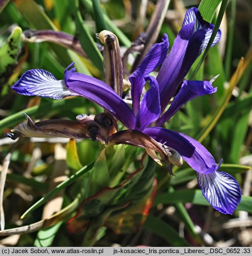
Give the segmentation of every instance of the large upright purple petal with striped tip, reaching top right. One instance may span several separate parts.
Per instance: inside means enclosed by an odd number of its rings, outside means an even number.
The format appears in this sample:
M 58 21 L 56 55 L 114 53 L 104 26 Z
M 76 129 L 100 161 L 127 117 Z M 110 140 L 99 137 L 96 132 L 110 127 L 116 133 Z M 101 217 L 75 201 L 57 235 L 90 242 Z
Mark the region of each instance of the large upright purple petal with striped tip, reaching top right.
M 183 27 L 157 76 L 157 82 L 160 84 L 161 111 L 164 111 L 193 62 L 206 48 L 213 29 L 212 24 L 202 19 L 197 8 L 191 8 L 186 12 Z M 221 31 L 218 30 L 212 46 L 220 38 Z

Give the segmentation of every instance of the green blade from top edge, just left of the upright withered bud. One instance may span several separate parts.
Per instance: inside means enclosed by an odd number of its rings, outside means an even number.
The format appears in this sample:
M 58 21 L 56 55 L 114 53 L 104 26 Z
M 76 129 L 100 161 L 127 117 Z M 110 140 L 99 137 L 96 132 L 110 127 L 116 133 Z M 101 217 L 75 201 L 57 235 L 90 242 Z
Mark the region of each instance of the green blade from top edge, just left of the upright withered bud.
M 82 15 L 79 10 L 79 0 L 75 0 L 76 8 L 76 31 L 78 32 L 78 38 L 80 44 L 85 52 L 87 52 L 88 57 L 95 64 L 98 70 L 103 74 L 103 56 L 101 55 L 99 49 L 96 47 L 94 39 L 92 38 L 87 25 L 82 19 Z

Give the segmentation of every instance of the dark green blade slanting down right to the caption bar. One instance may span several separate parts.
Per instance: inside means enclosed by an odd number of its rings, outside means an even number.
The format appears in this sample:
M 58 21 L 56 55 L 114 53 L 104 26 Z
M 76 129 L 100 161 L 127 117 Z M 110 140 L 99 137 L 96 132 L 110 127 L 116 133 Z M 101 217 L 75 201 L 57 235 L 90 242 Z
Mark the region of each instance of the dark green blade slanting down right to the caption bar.
M 149 215 L 144 227 L 164 238 L 171 246 L 190 246 L 184 238 L 178 235 L 178 232 L 173 227 L 159 218 Z

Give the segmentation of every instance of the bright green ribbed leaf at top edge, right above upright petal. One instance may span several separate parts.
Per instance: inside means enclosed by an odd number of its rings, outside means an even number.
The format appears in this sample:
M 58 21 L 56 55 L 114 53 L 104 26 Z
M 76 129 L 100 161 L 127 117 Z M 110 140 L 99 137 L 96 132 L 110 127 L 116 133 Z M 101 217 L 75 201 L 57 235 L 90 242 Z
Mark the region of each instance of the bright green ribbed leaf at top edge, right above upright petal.
M 200 5 L 198 6 L 198 10 L 200 11 L 202 17 L 205 21 L 212 22 L 214 13 L 218 5 L 220 5 L 222 0 L 202 0 Z

